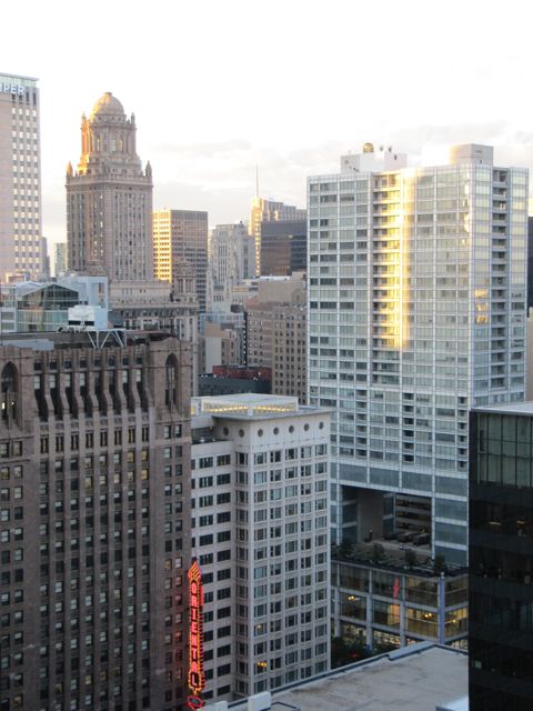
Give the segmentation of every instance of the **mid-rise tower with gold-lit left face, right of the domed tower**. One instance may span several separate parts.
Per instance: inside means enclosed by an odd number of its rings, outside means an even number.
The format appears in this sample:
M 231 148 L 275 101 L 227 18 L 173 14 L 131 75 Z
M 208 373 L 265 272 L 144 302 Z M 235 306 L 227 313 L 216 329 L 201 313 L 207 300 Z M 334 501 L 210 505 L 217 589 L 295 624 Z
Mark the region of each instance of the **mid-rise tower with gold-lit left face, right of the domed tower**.
M 205 311 L 208 283 L 208 213 L 195 210 L 155 210 L 153 259 L 157 279 L 174 283 L 187 262 L 197 283 L 200 313 Z

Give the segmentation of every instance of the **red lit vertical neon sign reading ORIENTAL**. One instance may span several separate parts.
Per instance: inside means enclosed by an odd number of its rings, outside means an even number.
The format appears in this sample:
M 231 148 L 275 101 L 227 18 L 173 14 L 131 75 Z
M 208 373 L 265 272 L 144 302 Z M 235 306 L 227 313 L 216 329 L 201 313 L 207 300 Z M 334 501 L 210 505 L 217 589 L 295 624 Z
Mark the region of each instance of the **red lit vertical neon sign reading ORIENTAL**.
M 190 709 L 201 709 L 203 699 L 201 693 L 205 687 L 203 673 L 203 585 L 202 571 L 194 559 L 188 573 L 189 578 L 189 677 L 188 684 L 191 695 L 187 698 Z

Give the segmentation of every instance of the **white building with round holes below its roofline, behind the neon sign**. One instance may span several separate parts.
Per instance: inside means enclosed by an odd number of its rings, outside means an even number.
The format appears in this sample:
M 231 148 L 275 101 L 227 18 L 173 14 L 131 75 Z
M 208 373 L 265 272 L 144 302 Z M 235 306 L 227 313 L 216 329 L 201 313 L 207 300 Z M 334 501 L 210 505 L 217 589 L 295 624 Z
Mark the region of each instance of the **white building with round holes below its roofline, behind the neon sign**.
M 330 663 L 329 420 L 295 398 L 192 401 L 192 554 L 205 589 L 205 699 Z

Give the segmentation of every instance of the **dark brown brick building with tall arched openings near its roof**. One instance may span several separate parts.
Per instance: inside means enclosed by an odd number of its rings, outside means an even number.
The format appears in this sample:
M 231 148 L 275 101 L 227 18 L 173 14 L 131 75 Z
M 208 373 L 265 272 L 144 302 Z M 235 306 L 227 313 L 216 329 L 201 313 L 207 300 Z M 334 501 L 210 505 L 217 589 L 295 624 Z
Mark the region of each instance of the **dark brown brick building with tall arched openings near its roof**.
M 2 710 L 184 703 L 190 350 L 104 336 L 0 347 Z

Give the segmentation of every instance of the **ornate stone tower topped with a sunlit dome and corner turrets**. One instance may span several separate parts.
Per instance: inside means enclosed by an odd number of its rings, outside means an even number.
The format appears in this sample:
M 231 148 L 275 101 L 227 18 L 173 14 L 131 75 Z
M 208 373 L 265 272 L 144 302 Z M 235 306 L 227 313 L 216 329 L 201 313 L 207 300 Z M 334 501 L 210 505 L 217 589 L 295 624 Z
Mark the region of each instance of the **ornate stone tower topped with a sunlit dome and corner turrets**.
M 110 281 L 153 277 L 152 169 L 135 150 L 135 119 L 111 92 L 81 120 L 78 170 L 67 168 L 69 268 Z

